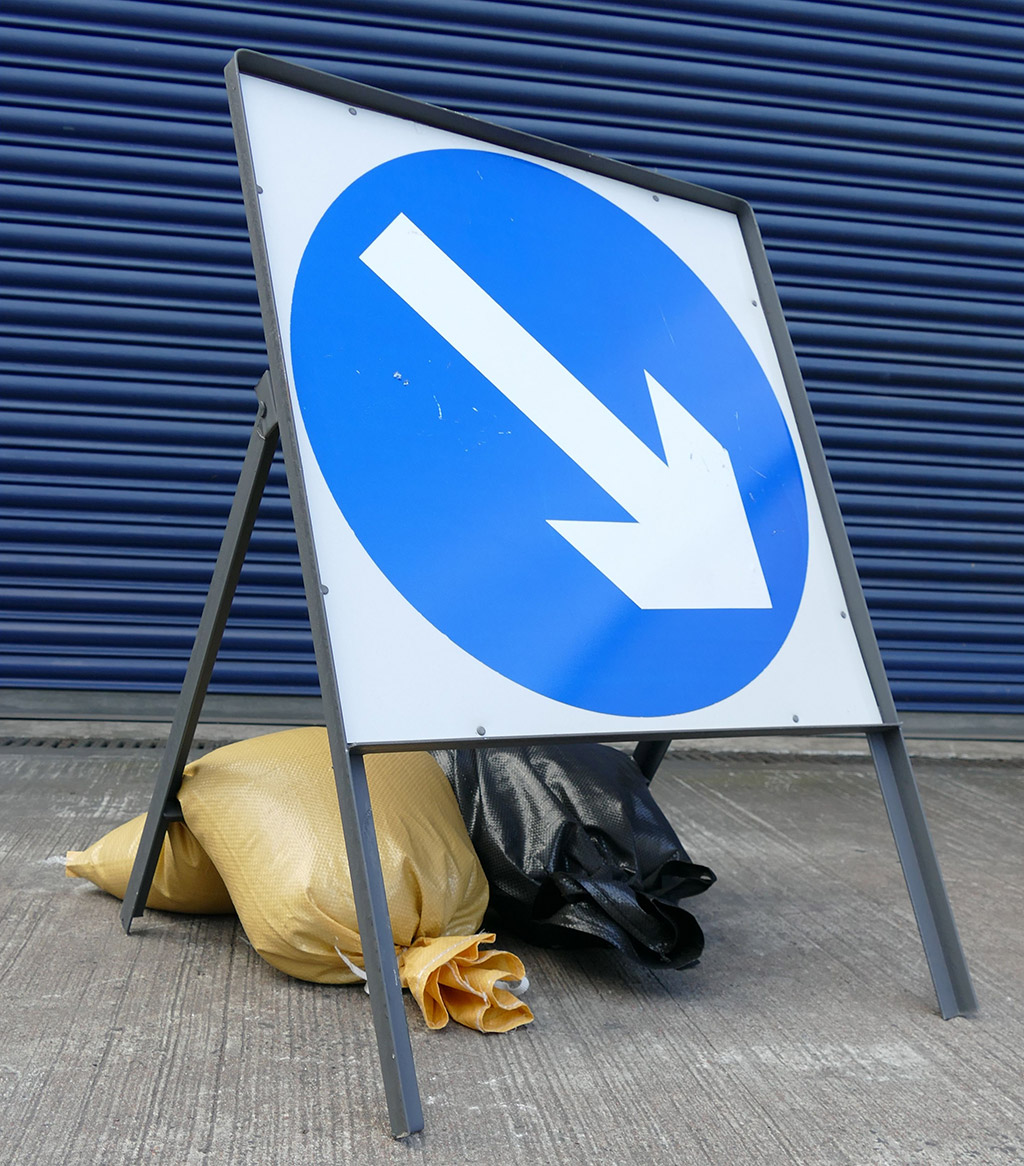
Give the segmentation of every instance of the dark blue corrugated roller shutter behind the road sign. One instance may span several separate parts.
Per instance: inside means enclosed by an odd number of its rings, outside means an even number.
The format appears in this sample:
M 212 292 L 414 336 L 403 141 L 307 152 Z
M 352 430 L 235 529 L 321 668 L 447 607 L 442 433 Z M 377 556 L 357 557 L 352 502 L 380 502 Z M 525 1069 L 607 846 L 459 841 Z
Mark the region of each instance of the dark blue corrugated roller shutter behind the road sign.
M 1024 711 L 1024 7 L 6 0 L 0 684 L 180 683 L 264 368 L 252 48 L 758 212 L 897 703 Z M 280 468 L 215 687 L 313 691 Z

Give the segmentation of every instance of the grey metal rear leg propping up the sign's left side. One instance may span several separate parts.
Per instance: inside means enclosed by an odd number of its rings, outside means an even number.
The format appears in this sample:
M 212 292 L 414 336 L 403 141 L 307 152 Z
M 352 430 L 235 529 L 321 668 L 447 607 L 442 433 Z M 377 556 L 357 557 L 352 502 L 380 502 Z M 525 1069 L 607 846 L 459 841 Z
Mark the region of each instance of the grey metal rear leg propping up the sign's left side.
M 177 698 L 170 733 L 163 750 L 160 771 L 146 814 L 139 850 L 132 865 L 125 900 L 121 905 L 121 926 L 125 933 L 131 933 L 132 920 L 138 919 L 149 898 L 149 887 L 160 849 L 170 822 L 181 817 L 177 806 L 177 791 L 181 786 L 182 772 L 188 760 L 189 749 L 196 735 L 196 725 L 206 696 L 206 686 L 213 670 L 213 662 L 220 648 L 227 612 L 238 585 L 238 576 L 248 549 L 248 540 L 255 522 L 257 511 L 262 498 L 267 475 L 274 450 L 278 448 L 278 416 L 274 409 L 271 388 L 271 374 L 264 373 L 257 385 L 259 413 L 253 424 L 234 491 L 234 499 L 224 528 L 220 552 L 213 568 L 213 577 L 206 592 L 206 602 L 196 640 L 185 670 L 181 694 Z

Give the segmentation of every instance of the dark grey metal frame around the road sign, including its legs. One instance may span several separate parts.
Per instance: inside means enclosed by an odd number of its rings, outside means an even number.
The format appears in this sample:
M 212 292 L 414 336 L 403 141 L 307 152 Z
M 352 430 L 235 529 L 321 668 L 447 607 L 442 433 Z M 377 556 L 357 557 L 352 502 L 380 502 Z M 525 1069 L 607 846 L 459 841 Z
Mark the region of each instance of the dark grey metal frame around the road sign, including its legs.
M 313 525 L 303 486 L 295 423 L 290 414 L 281 335 L 258 206 L 259 190 L 253 175 L 246 134 L 240 91 L 241 75 L 274 80 L 339 103 L 390 113 L 442 129 L 451 129 L 483 142 L 496 143 L 540 159 L 606 175 L 652 192 L 662 192 L 699 202 L 737 216 L 788 388 L 798 433 L 802 441 L 812 484 L 844 592 L 847 610 L 882 717 L 881 724 L 830 728 L 861 730 L 867 735 L 941 1014 L 948 1019 L 974 1012 L 977 1004 L 970 975 L 925 821 L 920 795 L 875 640 L 842 515 L 751 208 L 742 199 L 729 195 L 706 190 L 620 162 L 596 157 L 566 146 L 386 93 L 367 85 L 343 80 L 248 51 L 239 51 L 234 55 L 225 70 L 225 77 L 271 370 L 257 386 L 259 401 L 257 420 L 125 894 L 121 909 L 121 922 L 125 930 L 128 932 L 132 921 L 142 914 L 167 826 L 181 816 L 177 806 L 177 791 L 188 751 L 195 736 L 213 661 L 220 645 L 231 598 L 248 546 L 271 459 L 280 436 L 283 444 L 303 583 L 323 693 L 324 718 L 338 791 L 338 803 L 349 852 L 391 1130 L 394 1137 L 405 1137 L 422 1129 L 423 1114 L 408 1027 L 405 1021 L 398 964 L 391 940 L 387 899 L 366 786 L 363 752 L 369 751 L 369 749 L 350 746 L 345 735 L 338 676 L 335 656 L 331 652 L 330 626 L 317 569 Z M 821 726 L 806 729 L 794 725 L 787 726 L 785 730 L 757 729 L 750 731 L 759 733 L 765 731 L 801 732 L 809 736 L 827 730 Z M 707 737 L 709 732 L 701 730 L 687 736 Z M 631 733 L 629 739 L 637 739 L 637 733 Z M 573 739 L 582 738 L 574 736 Z M 603 736 L 601 739 L 612 738 Z M 448 744 L 478 747 L 499 743 L 492 738 L 488 738 L 485 742 L 477 738 L 449 742 Z M 668 745 L 669 740 L 665 739 L 664 732 L 639 735 L 639 743 L 633 756 L 648 780 L 665 757 Z M 406 743 L 401 747 L 416 746 Z

